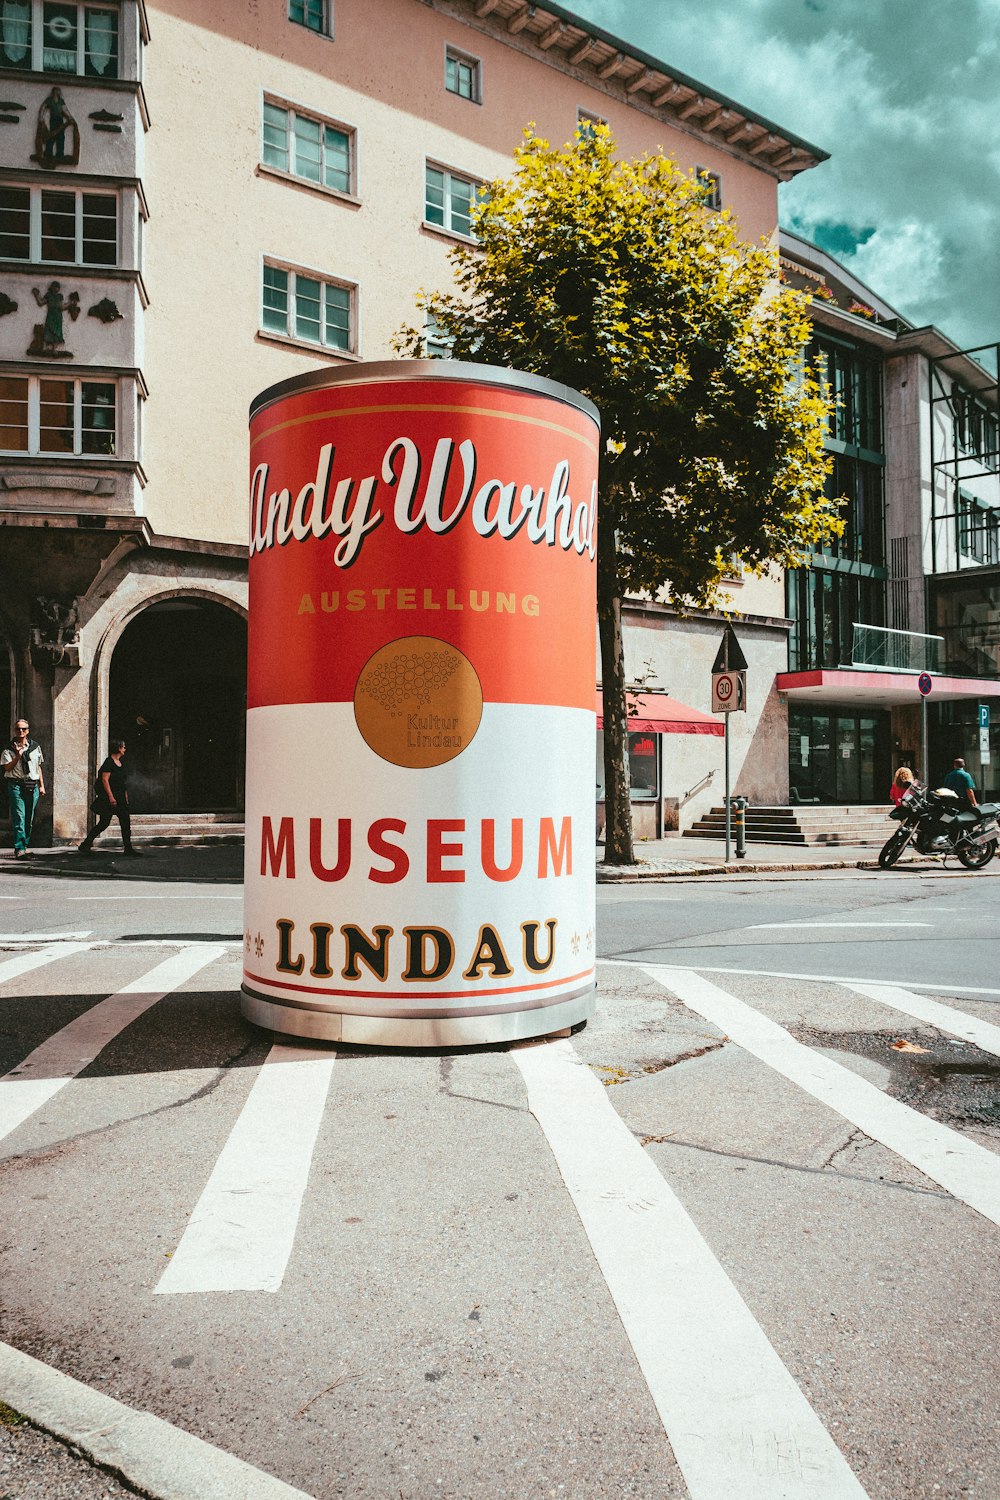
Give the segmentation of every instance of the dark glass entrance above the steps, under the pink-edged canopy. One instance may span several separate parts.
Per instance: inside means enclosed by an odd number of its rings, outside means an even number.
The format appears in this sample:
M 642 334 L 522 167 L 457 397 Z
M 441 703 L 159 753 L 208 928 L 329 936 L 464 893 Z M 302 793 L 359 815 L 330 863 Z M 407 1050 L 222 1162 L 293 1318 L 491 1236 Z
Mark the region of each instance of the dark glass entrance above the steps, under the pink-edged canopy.
M 888 712 L 789 708 L 792 802 L 888 802 L 891 780 Z

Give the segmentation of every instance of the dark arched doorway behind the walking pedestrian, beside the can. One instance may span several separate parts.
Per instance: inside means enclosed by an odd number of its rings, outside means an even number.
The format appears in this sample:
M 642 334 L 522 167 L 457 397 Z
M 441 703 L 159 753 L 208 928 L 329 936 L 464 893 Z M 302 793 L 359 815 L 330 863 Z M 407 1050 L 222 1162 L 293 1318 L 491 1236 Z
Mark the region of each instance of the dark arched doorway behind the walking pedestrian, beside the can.
M 144 609 L 111 657 L 108 730 L 127 744 L 136 812 L 241 813 L 246 621 L 204 598 Z

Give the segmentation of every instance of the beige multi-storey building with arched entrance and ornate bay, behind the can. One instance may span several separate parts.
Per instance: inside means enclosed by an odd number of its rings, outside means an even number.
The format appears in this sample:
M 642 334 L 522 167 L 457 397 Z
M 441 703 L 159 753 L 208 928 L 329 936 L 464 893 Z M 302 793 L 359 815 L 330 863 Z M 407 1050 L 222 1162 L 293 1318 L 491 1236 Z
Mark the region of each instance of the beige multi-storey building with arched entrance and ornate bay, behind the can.
M 112 732 L 136 808 L 238 813 L 249 402 L 391 357 L 528 123 L 604 120 L 775 244 L 778 183 L 822 158 L 525 0 L 28 0 L 0 9 L 0 717 L 46 746 L 55 840 Z M 735 766 L 781 800 L 783 582 L 732 597 L 757 657 Z M 636 603 L 630 674 L 705 711 L 718 636 Z M 688 738 L 663 736 L 651 830 L 720 759 Z

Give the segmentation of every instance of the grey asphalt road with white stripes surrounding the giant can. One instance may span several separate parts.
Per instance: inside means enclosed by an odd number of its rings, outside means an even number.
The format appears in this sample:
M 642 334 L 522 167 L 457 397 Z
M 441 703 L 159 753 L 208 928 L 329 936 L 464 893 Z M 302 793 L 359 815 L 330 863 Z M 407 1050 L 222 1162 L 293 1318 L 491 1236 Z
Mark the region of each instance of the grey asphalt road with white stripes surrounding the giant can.
M 388 1054 L 10 873 L 0 1338 L 318 1500 L 997 1500 L 997 891 L 601 888 L 583 1030 Z

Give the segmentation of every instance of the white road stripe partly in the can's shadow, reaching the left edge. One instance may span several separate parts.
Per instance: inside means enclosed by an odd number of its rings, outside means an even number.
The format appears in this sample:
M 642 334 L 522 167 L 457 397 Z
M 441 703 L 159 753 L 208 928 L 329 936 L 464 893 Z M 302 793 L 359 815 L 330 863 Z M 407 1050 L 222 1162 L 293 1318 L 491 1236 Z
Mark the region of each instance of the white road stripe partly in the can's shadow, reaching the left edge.
M 222 952 L 217 944 L 192 944 L 36 1047 L 0 1078 L 0 1140 L 64 1089 L 126 1026 Z

